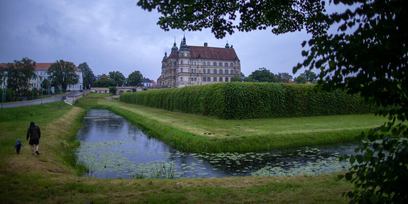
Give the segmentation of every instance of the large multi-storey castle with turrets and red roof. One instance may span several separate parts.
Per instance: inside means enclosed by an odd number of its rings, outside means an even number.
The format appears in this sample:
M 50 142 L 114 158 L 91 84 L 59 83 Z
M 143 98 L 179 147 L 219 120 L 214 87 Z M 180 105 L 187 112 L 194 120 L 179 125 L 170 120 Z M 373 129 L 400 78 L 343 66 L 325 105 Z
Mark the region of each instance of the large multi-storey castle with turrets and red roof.
M 162 74 L 157 85 L 179 88 L 217 82 L 230 82 L 234 76 L 241 76 L 241 65 L 233 46 L 225 48 L 188 46 L 186 37 L 181 41 L 180 49 L 174 40 L 172 52 L 164 54 Z

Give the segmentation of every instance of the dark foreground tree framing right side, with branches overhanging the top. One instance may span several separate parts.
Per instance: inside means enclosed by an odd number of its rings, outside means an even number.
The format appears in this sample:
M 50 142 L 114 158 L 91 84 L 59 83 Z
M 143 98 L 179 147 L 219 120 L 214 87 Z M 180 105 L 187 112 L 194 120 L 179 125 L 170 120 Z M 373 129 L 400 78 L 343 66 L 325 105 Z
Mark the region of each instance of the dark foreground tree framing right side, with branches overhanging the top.
M 169 2 L 171 4 L 169 4 Z M 324 15 L 324 1 L 236 1 L 211 0 L 161 1 L 140 0 L 138 5 L 163 14 L 161 28 L 201 30 L 212 27 L 215 37 L 222 38 L 234 29 L 250 31 L 272 27 L 275 34 L 306 28 L 313 37 L 305 60 L 294 67 L 320 68 L 316 90 L 343 89 L 360 94 L 373 105 L 387 107 L 377 114 L 388 116 L 388 123 L 362 136 L 370 141 L 382 140 L 382 146 L 362 144 L 362 155 L 350 158 L 353 167 L 345 179 L 355 184 L 347 195 L 352 202 L 404 203 L 408 194 L 407 141 L 391 136 L 408 135 L 403 124 L 408 115 L 408 4 L 405 0 L 334 0 L 353 6 L 342 13 Z M 240 15 L 234 25 L 236 12 Z M 340 23 L 335 35 L 327 35 L 329 25 Z M 388 151 L 388 156 L 384 151 Z

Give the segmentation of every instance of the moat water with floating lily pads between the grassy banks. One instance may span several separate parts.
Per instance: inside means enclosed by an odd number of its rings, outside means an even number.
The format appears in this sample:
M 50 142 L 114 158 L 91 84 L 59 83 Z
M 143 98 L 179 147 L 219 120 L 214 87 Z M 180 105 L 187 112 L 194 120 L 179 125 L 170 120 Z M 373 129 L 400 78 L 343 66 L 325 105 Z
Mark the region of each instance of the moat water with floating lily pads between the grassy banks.
M 96 178 L 197 178 L 332 173 L 348 169 L 338 156 L 355 154 L 357 143 L 256 152 L 186 153 L 146 136 L 108 110 L 90 110 L 77 133 L 85 176 Z

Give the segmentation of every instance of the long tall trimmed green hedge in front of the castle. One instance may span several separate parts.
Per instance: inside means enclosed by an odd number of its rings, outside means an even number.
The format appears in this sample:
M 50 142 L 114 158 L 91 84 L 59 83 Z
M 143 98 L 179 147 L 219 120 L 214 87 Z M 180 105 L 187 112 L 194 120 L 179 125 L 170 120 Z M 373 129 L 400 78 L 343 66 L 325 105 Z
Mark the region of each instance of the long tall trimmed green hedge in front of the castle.
M 315 93 L 313 84 L 227 82 L 122 93 L 120 101 L 221 119 L 360 114 L 359 95 Z

